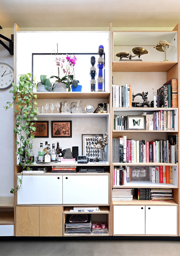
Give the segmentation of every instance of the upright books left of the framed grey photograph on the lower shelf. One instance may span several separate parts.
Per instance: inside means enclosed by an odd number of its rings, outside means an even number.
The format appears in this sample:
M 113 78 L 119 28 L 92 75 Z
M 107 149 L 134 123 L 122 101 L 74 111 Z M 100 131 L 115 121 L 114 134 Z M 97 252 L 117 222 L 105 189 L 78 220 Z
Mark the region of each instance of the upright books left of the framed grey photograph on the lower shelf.
M 114 186 L 123 186 L 130 182 L 131 168 L 129 166 L 124 168 L 114 166 Z

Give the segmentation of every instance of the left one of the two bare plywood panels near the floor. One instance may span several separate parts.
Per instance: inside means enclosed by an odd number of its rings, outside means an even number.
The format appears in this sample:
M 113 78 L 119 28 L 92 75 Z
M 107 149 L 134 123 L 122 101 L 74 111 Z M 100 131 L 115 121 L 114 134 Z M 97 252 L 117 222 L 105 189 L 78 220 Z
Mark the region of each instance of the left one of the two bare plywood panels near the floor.
M 39 207 L 17 206 L 16 207 L 16 236 L 38 237 L 39 236 Z

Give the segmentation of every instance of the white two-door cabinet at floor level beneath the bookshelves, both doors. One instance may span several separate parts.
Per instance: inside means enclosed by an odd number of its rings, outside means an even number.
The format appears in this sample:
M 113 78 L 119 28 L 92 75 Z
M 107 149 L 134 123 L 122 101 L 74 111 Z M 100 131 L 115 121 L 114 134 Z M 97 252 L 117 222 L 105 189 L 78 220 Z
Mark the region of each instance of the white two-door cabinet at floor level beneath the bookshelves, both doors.
M 177 205 L 114 205 L 113 235 L 177 235 Z

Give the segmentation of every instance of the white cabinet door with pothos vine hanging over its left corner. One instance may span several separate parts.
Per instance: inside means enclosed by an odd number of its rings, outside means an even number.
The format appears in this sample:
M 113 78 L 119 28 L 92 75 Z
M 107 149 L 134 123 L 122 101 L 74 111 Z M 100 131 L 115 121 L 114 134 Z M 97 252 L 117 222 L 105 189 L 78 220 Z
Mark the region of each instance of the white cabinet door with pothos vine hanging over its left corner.
M 23 175 L 17 203 L 62 204 L 62 176 Z

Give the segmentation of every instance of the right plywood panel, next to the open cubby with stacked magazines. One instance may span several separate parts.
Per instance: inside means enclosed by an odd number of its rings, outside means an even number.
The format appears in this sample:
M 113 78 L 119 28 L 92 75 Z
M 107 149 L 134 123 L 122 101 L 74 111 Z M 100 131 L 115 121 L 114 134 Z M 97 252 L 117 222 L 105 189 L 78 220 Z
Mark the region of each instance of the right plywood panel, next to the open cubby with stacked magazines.
M 39 207 L 40 237 L 62 237 L 62 207 Z

